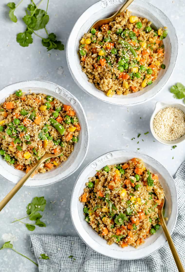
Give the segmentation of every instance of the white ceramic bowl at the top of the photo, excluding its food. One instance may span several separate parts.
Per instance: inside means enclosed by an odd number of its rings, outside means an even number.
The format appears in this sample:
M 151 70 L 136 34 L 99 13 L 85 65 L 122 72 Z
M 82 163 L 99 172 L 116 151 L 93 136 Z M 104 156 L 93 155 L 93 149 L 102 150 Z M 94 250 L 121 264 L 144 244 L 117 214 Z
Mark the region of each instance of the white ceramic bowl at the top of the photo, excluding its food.
M 123 4 L 120 2 L 102 0 L 96 2 L 86 11 L 84 11 L 84 13 L 75 23 L 71 34 L 69 35 L 66 45 L 66 58 L 72 77 L 83 91 L 101 101 L 128 107 L 150 100 L 166 84 L 175 66 L 178 52 L 178 40 L 174 26 L 161 10 L 145 1 L 135 0 L 128 8 L 134 15 L 147 18 L 148 20 L 152 21 L 157 28 L 163 26 L 168 27 L 168 35 L 163 40 L 166 52 L 164 58 L 166 69 L 161 69 L 156 81 L 153 84 L 145 87 L 142 91 L 126 96 L 116 94 L 113 97 L 107 97 L 104 92 L 98 90 L 94 84 L 90 83 L 86 74 L 82 72 L 80 59 L 77 54 L 78 45 L 81 37 L 89 30 L 92 24 L 96 20 L 107 18 L 110 14 L 115 13 Z

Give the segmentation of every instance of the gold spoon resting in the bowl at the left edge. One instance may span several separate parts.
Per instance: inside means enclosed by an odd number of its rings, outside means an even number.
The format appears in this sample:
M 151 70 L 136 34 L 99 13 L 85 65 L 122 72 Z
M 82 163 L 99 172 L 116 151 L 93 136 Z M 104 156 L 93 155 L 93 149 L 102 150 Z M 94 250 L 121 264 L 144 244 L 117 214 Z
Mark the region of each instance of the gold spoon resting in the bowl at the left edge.
M 67 142 L 68 147 L 69 142 Z M 66 149 L 65 148 L 65 149 Z M 62 149 L 59 150 L 56 154 L 54 153 L 46 153 L 38 162 L 28 171 L 28 173 L 13 187 L 13 189 L 4 197 L 4 199 L 0 202 L 0 211 L 7 205 L 7 203 L 12 199 L 12 197 L 19 191 L 19 189 L 25 184 L 29 177 L 37 170 L 37 168 L 45 162 L 47 159 L 55 158 L 60 156 L 64 151 Z

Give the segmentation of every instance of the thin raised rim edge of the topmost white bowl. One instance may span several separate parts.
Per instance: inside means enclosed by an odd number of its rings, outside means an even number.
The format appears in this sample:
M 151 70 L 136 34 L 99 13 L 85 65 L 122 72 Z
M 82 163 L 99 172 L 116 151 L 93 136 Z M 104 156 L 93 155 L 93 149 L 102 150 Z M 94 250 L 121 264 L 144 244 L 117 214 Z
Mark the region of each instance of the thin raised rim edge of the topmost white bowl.
M 139 105 L 139 104 L 145 103 L 145 102 L 147 102 L 147 101 L 150 101 L 150 100 L 153 99 L 157 94 L 159 94 L 159 92 L 163 89 L 163 87 L 166 85 L 166 83 L 168 82 L 169 78 L 171 77 L 171 75 L 172 75 L 172 73 L 173 73 L 173 71 L 174 71 L 174 69 L 175 69 L 175 65 L 176 65 L 177 57 L 178 57 L 178 37 L 177 37 L 177 33 L 176 33 L 175 27 L 173 26 L 171 20 L 166 16 L 165 13 L 163 13 L 162 10 L 160 10 L 160 9 L 157 8 L 156 6 L 154 6 L 154 5 L 152 5 L 152 4 L 148 3 L 148 2 L 146 2 L 146 1 L 144 1 L 144 0 L 138 0 L 138 1 L 141 1 L 141 2 L 143 2 L 143 3 L 145 3 L 145 4 L 148 4 L 149 6 L 151 6 L 151 7 L 153 7 L 153 8 L 155 8 L 156 10 L 158 10 L 159 12 L 161 12 L 161 13 L 167 18 L 167 20 L 170 22 L 171 26 L 173 27 L 173 31 L 174 31 L 174 32 L 173 32 L 173 35 L 174 35 L 175 40 L 177 41 L 177 42 L 176 42 L 176 46 L 177 46 L 176 56 L 175 56 L 174 63 L 173 63 L 173 67 L 171 68 L 171 72 L 170 72 L 168 78 L 165 79 L 165 81 L 163 82 L 163 84 L 158 88 L 157 91 L 155 91 L 155 93 L 154 93 L 152 96 L 147 97 L 147 98 L 145 98 L 145 99 L 142 100 L 142 101 L 139 101 L 139 102 L 136 101 L 136 102 L 134 102 L 134 103 L 129 103 L 129 102 L 128 102 L 128 103 L 124 103 L 124 104 L 123 104 L 123 103 L 115 103 L 114 100 L 112 100 L 112 101 L 111 101 L 111 100 L 110 100 L 110 101 L 106 101 L 106 100 L 104 100 L 103 98 L 97 97 L 95 94 L 92 94 L 92 93 L 90 93 L 89 91 L 87 91 L 87 89 L 84 88 L 84 87 L 80 84 L 80 82 L 78 81 L 78 79 L 75 77 L 73 70 L 71 69 L 70 60 L 69 60 L 69 59 L 70 59 L 70 55 L 71 55 L 71 52 L 70 52 L 70 50 L 69 50 L 69 40 L 71 39 L 71 35 L 72 35 L 73 31 L 74 31 L 74 28 L 75 28 L 75 26 L 78 24 L 78 22 L 80 21 L 81 17 L 84 16 L 84 13 L 88 13 L 91 9 L 93 10 L 95 6 L 98 6 L 98 5 L 102 2 L 102 0 L 99 0 L 99 1 L 95 2 L 95 3 L 92 4 L 90 7 L 88 7 L 86 10 L 84 10 L 84 12 L 80 15 L 80 17 L 78 18 L 78 20 L 77 20 L 76 23 L 74 24 L 74 26 L 73 26 L 71 32 L 69 33 L 69 36 L 68 36 L 68 39 L 67 39 L 67 43 L 66 43 L 66 61 L 67 61 L 68 68 L 69 68 L 69 71 L 70 71 L 70 73 L 71 73 L 71 76 L 72 76 L 72 78 L 74 79 L 75 83 L 76 83 L 76 84 L 77 84 L 84 92 L 86 92 L 87 94 L 91 95 L 92 97 L 94 97 L 94 98 L 96 98 L 96 99 L 98 99 L 98 100 L 100 100 L 100 101 L 102 101 L 102 102 L 104 102 L 104 103 L 108 103 L 108 104 L 116 105 L 116 106 L 120 106 L 120 107 L 131 107 L 131 106 Z M 114 6 L 115 4 L 116 4 L 116 3 L 111 2 L 111 6 Z M 122 3 L 119 3 L 119 4 L 121 5 Z M 119 4 L 116 4 L 116 5 L 119 5 Z M 91 12 L 91 14 L 92 14 L 92 12 Z M 79 65 L 80 65 L 80 60 L 79 60 Z M 162 78 L 163 78 L 163 77 L 162 77 Z M 162 78 L 161 78 L 161 79 L 162 79 Z M 161 81 L 161 80 L 160 80 L 160 81 Z M 159 82 L 160 82 L 160 81 L 159 81 Z M 87 82 L 88 82 L 88 78 L 87 78 Z M 159 82 L 158 82 L 157 84 L 159 84 Z M 151 92 L 152 89 L 153 89 L 153 88 L 151 88 L 148 92 Z M 97 92 L 100 91 L 100 90 L 98 90 L 98 89 L 96 89 L 96 90 L 97 90 Z M 101 92 L 102 92 L 102 91 L 101 91 Z M 144 94 L 144 93 L 143 93 L 143 94 Z M 143 95 L 143 94 L 141 94 L 141 95 Z M 128 100 L 129 100 L 129 98 L 128 98 Z

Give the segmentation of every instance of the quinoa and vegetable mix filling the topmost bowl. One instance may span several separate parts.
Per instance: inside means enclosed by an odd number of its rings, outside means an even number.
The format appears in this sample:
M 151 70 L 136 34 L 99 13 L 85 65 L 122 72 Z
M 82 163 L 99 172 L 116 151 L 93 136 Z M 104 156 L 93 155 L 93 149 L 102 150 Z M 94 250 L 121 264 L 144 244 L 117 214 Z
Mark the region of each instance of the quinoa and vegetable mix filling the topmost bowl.
M 82 70 L 108 97 L 127 95 L 152 84 L 163 64 L 168 30 L 151 28 L 146 18 L 126 10 L 115 21 L 91 29 L 80 41 Z

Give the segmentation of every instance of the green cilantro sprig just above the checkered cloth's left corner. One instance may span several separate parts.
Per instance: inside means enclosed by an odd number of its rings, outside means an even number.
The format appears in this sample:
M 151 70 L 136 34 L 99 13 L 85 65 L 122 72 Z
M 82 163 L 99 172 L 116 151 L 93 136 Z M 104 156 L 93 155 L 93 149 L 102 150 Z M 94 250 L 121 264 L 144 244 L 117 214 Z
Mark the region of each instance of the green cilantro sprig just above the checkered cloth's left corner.
M 32 202 L 27 205 L 26 213 L 28 215 L 23 218 L 20 218 L 20 219 L 15 218 L 16 220 L 13 221 L 12 223 L 19 221 L 19 222 L 25 224 L 26 228 L 30 231 L 34 231 L 35 226 L 46 227 L 46 224 L 40 220 L 43 216 L 39 213 L 39 211 L 41 211 L 41 212 L 44 211 L 45 206 L 46 206 L 46 199 L 43 196 L 34 197 Z M 29 217 L 29 220 L 35 221 L 35 224 L 28 224 L 28 223 L 21 221 L 22 219 L 25 219 L 27 217 Z

